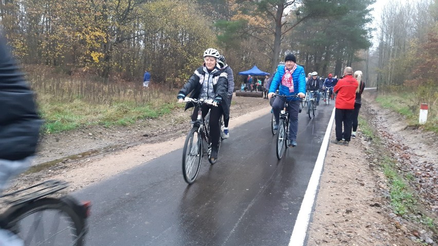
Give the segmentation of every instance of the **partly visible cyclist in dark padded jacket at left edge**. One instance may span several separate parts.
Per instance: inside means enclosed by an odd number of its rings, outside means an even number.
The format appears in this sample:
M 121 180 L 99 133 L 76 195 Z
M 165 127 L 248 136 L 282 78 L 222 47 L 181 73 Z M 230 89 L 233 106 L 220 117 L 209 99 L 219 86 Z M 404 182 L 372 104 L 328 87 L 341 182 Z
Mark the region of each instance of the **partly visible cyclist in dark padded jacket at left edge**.
M 33 92 L 0 35 L 0 192 L 8 181 L 30 166 L 41 120 Z M 0 230 L 0 245 L 24 245 L 16 235 Z

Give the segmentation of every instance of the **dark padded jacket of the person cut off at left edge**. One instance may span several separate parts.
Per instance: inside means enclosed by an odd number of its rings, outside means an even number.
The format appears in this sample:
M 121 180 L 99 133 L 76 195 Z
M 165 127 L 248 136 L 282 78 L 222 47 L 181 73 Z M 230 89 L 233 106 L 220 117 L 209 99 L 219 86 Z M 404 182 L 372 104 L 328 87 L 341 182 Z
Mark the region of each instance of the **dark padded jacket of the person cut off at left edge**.
M 33 92 L 0 37 L 0 159 L 22 160 L 35 153 L 42 121 Z

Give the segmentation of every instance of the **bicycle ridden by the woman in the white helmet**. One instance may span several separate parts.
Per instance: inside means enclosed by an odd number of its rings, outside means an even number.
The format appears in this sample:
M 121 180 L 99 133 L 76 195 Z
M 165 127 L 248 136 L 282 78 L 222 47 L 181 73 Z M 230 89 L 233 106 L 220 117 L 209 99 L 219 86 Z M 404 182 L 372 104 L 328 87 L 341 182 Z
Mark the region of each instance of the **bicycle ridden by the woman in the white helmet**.
M 182 148 L 182 175 L 187 183 L 192 184 L 198 176 L 200 164 L 205 154 L 208 155 L 208 161 L 211 164 L 217 161 L 217 158 L 215 160 L 210 159 L 212 147 L 210 128 L 208 126 L 209 124 L 206 124 L 206 120 L 202 118 L 202 105 L 213 105 L 213 100 L 196 100 L 186 97 L 184 101 L 192 102 L 195 106 L 195 110 L 198 110 L 197 119 L 195 122 L 191 122 L 193 127 L 187 134 L 184 148 Z M 207 120 L 209 120 L 209 118 Z M 222 116 L 220 121 L 222 121 Z M 221 138 L 219 138 L 218 151 L 220 148 Z

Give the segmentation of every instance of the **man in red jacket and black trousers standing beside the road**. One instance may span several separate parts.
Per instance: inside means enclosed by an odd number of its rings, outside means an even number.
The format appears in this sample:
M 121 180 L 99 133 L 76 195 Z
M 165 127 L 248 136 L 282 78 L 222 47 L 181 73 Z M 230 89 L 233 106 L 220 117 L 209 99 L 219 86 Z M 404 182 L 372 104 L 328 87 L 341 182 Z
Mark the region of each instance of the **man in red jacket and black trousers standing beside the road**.
M 338 93 L 335 103 L 336 141 L 333 141 L 333 143 L 348 146 L 350 142 L 357 86 L 359 85 L 357 80 L 353 78 L 353 69 L 345 67 L 344 77 L 333 88 L 333 91 Z M 342 123 L 344 125 L 343 136 Z M 342 139 L 345 140 L 342 142 Z

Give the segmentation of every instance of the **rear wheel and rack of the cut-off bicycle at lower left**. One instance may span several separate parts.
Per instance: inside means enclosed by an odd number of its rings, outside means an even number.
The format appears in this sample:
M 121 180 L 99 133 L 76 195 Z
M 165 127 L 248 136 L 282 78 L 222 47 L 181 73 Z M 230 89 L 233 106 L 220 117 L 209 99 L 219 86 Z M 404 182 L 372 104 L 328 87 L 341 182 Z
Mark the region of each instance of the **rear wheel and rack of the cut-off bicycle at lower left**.
M 68 195 L 47 197 L 67 186 L 48 180 L 2 195 L 9 207 L 0 214 L 0 228 L 21 238 L 25 246 L 84 245 L 90 202 L 81 204 Z

